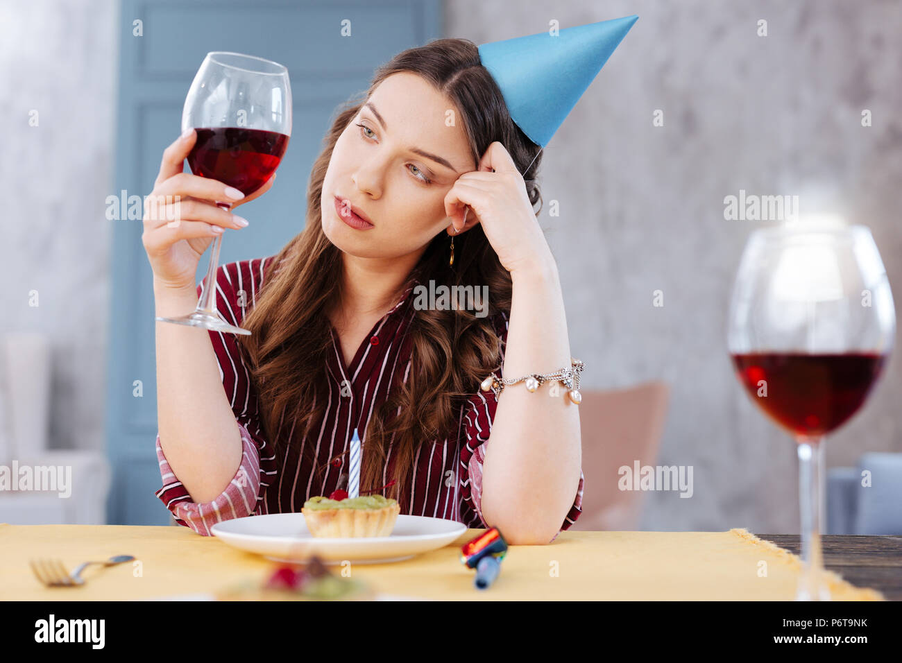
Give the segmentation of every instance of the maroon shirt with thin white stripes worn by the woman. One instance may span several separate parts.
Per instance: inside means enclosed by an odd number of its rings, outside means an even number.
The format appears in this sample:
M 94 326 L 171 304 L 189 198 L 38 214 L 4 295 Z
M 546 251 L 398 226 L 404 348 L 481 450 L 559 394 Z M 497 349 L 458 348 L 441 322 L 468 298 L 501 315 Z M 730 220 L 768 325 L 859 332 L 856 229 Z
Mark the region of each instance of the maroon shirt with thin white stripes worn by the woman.
M 264 269 L 274 258 L 231 262 L 219 267 L 216 307 L 223 318 L 241 325 L 244 311 L 253 307 L 262 287 Z M 409 295 L 417 283 L 419 281 L 411 279 L 398 303 L 375 324 L 369 339 L 358 348 L 349 366 L 345 367 L 333 335 L 333 352 L 327 356 L 330 379 L 325 417 L 308 436 L 296 436 L 291 427 L 290 439 L 284 447 L 312 445 L 318 464 L 327 464 L 322 482 L 315 481 L 312 466 L 301 454 L 291 454 L 290 458 L 287 454 L 276 457 L 274 445 L 263 437 L 256 390 L 235 335 L 209 332 L 223 388 L 232 403 L 241 433 L 244 453 L 226 490 L 212 502 L 198 503 L 191 499 L 173 474 L 157 434 L 157 459 L 163 486 L 155 494 L 179 525 L 209 536 L 210 528 L 221 520 L 300 511 L 309 497 L 328 495 L 339 486 L 346 488 L 354 428 L 358 429 L 365 450 L 370 415 L 385 401 L 388 390 L 400 388 L 400 382 L 406 382 L 410 374 L 411 344 L 410 337 L 404 332 L 416 314 Z M 198 297 L 205 284 L 206 277 L 198 286 Z M 506 316 L 500 314 L 494 320 L 494 326 L 503 357 L 507 341 Z M 343 390 L 343 384 L 350 384 L 350 389 L 345 387 Z M 429 441 L 419 448 L 410 480 L 410 514 L 456 520 L 467 527 L 488 527 L 481 511 L 484 445 L 492 431 L 497 402 L 492 391 L 478 391 L 466 401 L 456 430 L 448 431 L 445 439 Z M 391 446 L 387 457 L 382 484 L 388 483 L 390 465 L 393 465 Z M 561 529 L 570 527 L 582 511 L 583 483 L 581 472 L 573 506 Z M 551 540 L 556 538 L 557 534 Z

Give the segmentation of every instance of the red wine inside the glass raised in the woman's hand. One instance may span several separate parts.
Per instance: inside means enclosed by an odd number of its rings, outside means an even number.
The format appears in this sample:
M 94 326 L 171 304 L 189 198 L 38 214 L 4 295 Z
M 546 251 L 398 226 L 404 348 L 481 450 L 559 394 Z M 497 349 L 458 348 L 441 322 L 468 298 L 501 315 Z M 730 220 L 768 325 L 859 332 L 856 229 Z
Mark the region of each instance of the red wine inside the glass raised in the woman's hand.
M 245 196 L 260 189 L 279 167 L 289 137 L 262 129 L 217 126 L 197 128 L 189 152 L 191 172 L 235 187 Z

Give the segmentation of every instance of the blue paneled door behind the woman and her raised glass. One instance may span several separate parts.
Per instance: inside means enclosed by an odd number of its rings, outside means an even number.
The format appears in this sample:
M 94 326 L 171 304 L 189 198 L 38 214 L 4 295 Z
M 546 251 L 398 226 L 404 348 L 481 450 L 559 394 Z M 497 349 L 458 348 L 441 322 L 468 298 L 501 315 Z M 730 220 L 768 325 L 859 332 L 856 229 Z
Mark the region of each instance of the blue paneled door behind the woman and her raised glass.
M 347 23 L 350 22 L 350 23 Z M 343 25 L 350 36 L 343 36 Z M 112 191 L 151 192 L 163 149 L 180 133 L 181 109 L 208 51 L 276 60 L 290 70 L 293 128 L 279 180 L 242 207 L 251 222 L 226 230 L 220 264 L 276 253 L 304 225 L 306 186 L 336 106 L 365 90 L 373 69 L 441 35 L 437 0 L 121 0 L 119 103 Z M 346 32 L 346 30 L 345 30 Z M 188 170 L 188 166 L 185 166 Z M 111 222 L 113 289 L 107 368 L 107 448 L 114 467 L 108 521 L 159 525 L 169 520 L 154 495 L 161 487 L 157 434 L 152 272 L 137 220 Z M 208 253 L 208 252 L 207 252 Z M 198 283 L 208 255 L 198 266 Z

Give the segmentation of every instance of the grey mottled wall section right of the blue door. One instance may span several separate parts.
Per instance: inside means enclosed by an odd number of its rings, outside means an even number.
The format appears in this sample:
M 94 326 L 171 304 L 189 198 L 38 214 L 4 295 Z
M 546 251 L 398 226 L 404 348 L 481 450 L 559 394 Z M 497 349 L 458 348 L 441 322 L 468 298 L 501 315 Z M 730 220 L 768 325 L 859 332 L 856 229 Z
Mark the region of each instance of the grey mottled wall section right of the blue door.
M 551 19 L 640 17 L 548 143 L 541 180 L 543 198 L 560 204 L 542 226 L 584 385 L 672 387 L 659 462 L 693 465 L 695 494 L 648 493 L 642 528 L 797 531 L 795 445 L 741 391 L 725 343 L 742 247 L 768 224 L 725 221 L 723 198 L 745 189 L 798 195 L 803 211 L 842 210 L 871 227 L 902 297 L 902 5 L 512 6 L 453 2 L 446 32 L 482 43 L 547 30 Z M 664 126 L 652 125 L 655 109 Z M 652 305 L 658 289 L 661 308 Z M 827 465 L 902 451 L 900 382 L 894 356 L 871 401 L 828 439 Z

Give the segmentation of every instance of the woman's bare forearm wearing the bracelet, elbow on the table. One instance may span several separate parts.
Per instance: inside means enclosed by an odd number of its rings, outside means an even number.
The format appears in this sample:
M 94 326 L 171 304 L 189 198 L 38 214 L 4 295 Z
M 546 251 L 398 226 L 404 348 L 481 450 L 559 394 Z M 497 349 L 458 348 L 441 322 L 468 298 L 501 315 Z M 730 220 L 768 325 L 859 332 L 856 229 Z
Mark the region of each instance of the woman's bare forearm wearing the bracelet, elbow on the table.
M 513 294 L 502 377 L 570 366 L 564 299 L 550 252 L 511 272 Z M 491 295 L 491 293 L 490 293 Z M 549 395 L 557 384 L 558 396 Z M 483 464 L 483 518 L 515 543 L 548 543 L 573 504 L 582 466 L 578 408 L 560 382 L 530 392 L 523 382 L 498 399 Z

